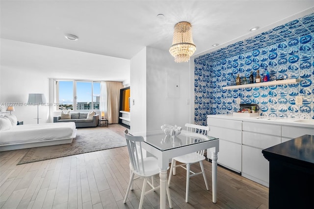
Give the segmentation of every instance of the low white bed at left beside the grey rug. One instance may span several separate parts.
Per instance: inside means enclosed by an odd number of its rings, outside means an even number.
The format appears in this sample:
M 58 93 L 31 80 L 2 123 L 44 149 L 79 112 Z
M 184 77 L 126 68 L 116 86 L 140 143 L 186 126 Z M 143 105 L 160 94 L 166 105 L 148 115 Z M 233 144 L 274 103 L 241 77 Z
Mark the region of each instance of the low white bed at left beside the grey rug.
M 74 122 L 12 126 L 0 131 L 0 152 L 72 143 L 76 134 Z

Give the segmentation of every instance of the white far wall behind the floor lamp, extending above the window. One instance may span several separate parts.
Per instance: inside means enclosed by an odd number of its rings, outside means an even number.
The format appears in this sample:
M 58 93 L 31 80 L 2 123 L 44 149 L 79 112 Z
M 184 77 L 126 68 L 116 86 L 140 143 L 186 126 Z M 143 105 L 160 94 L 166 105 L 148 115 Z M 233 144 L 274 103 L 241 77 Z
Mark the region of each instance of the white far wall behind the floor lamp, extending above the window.
M 43 93 L 46 102 L 52 103 L 49 78 L 130 79 L 128 59 L 8 39 L 0 41 L 0 104 L 27 103 L 29 93 Z M 122 80 L 113 78 L 112 72 L 120 74 Z M 6 105 L 1 109 L 6 110 Z M 24 124 L 37 123 L 37 106 L 15 106 L 14 114 Z M 39 106 L 39 123 L 52 122 L 49 115 L 48 106 Z

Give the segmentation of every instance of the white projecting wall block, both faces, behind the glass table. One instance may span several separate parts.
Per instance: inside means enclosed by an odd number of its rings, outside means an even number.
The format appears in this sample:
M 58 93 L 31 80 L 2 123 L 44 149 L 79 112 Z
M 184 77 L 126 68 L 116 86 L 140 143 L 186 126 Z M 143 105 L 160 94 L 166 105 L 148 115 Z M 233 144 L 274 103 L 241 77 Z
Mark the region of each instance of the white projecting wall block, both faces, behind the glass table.
M 194 72 L 194 71 L 193 71 Z M 167 98 L 167 75 L 180 78 L 180 98 Z M 131 59 L 131 132 L 161 131 L 163 124 L 190 122 L 189 63 L 176 63 L 168 51 L 145 47 Z

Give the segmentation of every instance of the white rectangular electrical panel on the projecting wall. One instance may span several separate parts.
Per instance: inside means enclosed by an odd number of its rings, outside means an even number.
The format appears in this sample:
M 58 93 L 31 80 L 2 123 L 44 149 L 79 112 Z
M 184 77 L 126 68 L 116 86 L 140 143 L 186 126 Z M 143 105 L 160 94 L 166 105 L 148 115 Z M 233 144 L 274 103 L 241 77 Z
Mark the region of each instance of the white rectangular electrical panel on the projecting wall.
M 180 99 L 180 74 L 167 73 L 166 74 L 166 98 Z

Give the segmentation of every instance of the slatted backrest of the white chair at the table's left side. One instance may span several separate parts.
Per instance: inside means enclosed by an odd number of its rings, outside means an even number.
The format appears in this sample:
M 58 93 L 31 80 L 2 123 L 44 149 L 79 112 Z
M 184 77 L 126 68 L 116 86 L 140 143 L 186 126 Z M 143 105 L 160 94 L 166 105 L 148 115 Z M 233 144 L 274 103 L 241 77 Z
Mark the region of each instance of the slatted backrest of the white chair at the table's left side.
M 127 140 L 130 163 L 133 170 L 138 173 L 145 174 L 142 152 L 142 142 L 144 142 L 143 136 L 132 136 L 129 134 L 128 130 L 124 131 L 124 135 Z

